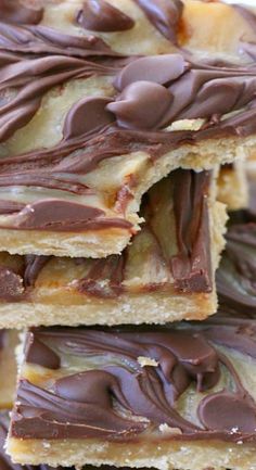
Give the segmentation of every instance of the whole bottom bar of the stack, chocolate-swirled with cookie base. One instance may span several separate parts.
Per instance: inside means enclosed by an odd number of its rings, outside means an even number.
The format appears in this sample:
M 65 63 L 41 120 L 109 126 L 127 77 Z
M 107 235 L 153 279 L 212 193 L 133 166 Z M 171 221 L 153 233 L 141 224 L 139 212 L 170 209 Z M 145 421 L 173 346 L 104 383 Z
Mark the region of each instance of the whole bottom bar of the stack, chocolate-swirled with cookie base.
M 28 332 L 20 463 L 255 469 L 256 320 Z

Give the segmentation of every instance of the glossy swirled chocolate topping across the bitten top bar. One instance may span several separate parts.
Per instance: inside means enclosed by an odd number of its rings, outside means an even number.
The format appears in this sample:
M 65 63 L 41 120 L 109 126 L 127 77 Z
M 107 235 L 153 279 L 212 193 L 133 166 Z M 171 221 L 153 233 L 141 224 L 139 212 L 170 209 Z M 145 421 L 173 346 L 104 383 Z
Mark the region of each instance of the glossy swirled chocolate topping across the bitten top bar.
M 136 3 L 161 34 L 177 41 L 180 0 Z M 106 0 L 82 4 L 74 22 L 92 34 L 79 36 L 40 24 L 41 10 L 17 10 L 17 3 L 15 9 L 13 4 L 0 4 L 5 12 L 0 22 L 0 91 L 4 97 L 0 142 L 7 142 L 34 118 L 49 91 L 71 80 L 107 76 L 115 90 L 112 97 L 88 97 L 75 103 L 65 117 L 62 140 L 52 148 L 1 158 L 0 188 L 10 194 L 0 199 L 2 227 L 66 232 L 117 228 L 131 233 L 125 208 L 107 217 L 104 209 L 86 202 L 80 207 L 79 202 L 67 200 L 74 194 L 79 199 L 101 193 L 100 188 L 88 188 L 82 177 L 116 155 L 128 157 L 131 152 L 144 151 L 155 162 L 185 143 L 196 145 L 205 139 L 255 132 L 254 63 L 242 67 L 215 60 L 197 63 L 179 49 L 179 53 L 158 56 L 121 56 L 97 31 L 132 34 L 135 20 Z M 9 10 L 13 12 L 11 20 Z M 240 12 L 251 24 L 252 14 L 248 18 L 244 10 Z M 244 48 L 252 58 L 251 46 Z M 204 119 L 199 130 L 169 128 L 176 120 L 194 118 Z M 8 190 L 13 187 L 21 189 L 18 201 Z M 29 203 L 22 194 L 30 188 L 36 188 L 38 195 Z M 53 196 L 40 198 L 42 189 Z M 123 188 L 119 190 L 118 194 Z M 124 207 L 127 202 L 123 198 Z

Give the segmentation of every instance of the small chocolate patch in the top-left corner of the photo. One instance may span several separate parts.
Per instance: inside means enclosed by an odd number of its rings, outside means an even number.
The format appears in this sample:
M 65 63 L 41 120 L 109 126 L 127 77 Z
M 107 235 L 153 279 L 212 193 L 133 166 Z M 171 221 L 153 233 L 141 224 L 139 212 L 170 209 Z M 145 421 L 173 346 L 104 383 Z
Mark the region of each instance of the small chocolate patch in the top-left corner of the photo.
M 43 9 L 25 7 L 18 0 L 0 0 L 1 21 L 14 24 L 37 25 L 43 16 Z

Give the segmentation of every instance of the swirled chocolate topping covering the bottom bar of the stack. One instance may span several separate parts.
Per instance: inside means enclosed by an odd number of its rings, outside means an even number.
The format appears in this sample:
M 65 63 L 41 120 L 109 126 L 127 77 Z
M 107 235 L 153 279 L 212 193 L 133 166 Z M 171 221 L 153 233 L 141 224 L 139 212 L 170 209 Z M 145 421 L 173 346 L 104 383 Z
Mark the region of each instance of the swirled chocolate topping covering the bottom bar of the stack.
M 245 360 L 246 356 L 256 358 L 254 320 L 226 322 L 216 317 L 203 323 L 142 327 L 139 331 L 132 327 L 33 330 L 26 360 L 33 365 L 36 357 L 36 364 L 51 369 L 51 359 L 44 360 L 38 341 L 59 356 L 60 370 L 63 356 L 74 364 L 79 360 L 79 369 L 56 376 L 52 385 L 39 386 L 22 378 L 12 436 L 123 442 L 143 439 L 145 433 L 145 439 L 150 435 L 157 441 L 256 440 L 256 403 L 242 384 L 234 360 L 238 353 Z M 226 373 L 230 379 L 222 388 Z M 181 402 L 185 406 L 189 390 L 189 396 L 191 391 L 204 395 L 199 405 L 192 405 L 189 399 L 190 412 L 185 414 Z M 162 424 L 168 427 L 168 435 L 161 434 Z

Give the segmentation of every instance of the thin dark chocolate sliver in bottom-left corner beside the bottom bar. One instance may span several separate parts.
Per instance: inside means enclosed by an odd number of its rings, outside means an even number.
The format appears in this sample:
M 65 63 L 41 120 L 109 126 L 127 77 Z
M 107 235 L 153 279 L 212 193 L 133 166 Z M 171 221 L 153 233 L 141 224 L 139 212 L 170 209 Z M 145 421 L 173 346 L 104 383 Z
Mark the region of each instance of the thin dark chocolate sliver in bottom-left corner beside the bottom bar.
M 8 430 L 10 424 L 9 411 L 0 411 L 0 467 L 1 470 L 53 470 L 53 467 L 48 465 L 21 466 L 18 463 L 13 463 L 11 458 L 7 455 L 4 450 L 4 445 L 8 436 Z M 63 467 L 55 467 L 55 470 L 64 470 Z M 75 470 L 74 467 L 66 467 L 66 470 Z

